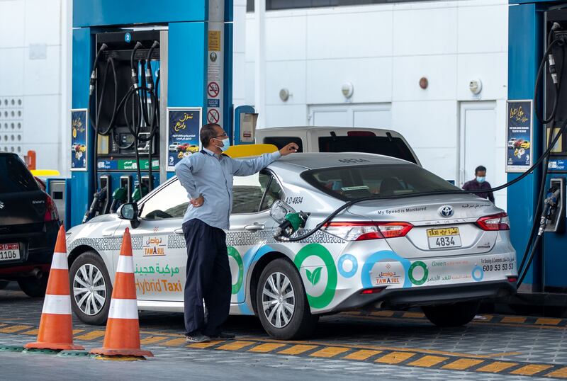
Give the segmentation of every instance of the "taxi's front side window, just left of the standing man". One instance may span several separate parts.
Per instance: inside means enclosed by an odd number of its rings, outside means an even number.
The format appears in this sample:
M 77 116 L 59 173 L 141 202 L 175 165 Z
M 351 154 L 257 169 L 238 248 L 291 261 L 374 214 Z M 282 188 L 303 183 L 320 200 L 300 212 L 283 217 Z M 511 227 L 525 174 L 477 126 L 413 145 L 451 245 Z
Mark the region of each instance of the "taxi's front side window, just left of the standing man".
M 189 205 L 187 191 L 181 186 L 179 180 L 175 180 L 144 203 L 140 218 L 144 220 L 182 218 L 187 205 Z

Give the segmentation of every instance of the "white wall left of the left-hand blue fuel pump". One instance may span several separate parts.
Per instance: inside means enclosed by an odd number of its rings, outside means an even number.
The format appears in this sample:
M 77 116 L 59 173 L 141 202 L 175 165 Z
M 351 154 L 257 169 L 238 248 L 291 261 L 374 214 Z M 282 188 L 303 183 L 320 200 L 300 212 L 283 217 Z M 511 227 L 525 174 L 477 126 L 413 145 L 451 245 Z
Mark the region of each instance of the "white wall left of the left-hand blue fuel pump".
M 0 150 L 23 157 L 33 149 L 38 169 L 60 171 L 62 3 L 0 1 Z

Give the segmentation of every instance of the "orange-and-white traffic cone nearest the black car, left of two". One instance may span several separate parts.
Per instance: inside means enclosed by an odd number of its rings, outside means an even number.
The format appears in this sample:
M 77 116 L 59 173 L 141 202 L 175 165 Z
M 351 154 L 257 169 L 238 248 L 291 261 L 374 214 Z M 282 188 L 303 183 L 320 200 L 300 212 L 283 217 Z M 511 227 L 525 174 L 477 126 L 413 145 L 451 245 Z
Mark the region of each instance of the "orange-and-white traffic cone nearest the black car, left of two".
M 47 280 L 38 341 L 26 344 L 25 348 L 84 349 L 82 346 L 73 345 L 72 321 L 65 229 L 60 227 L 51 262 L 49 280 Z

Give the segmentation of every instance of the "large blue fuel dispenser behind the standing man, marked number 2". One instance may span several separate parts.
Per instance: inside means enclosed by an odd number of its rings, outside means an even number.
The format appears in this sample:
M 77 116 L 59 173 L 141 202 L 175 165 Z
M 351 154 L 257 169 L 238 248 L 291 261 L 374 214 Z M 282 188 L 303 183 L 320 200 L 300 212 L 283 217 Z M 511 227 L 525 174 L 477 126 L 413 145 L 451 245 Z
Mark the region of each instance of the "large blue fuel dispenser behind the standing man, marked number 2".
M 67 227 L 173 176 L 201 125 L 233 128 L 232 1 L 74 0 L 73 27 Z

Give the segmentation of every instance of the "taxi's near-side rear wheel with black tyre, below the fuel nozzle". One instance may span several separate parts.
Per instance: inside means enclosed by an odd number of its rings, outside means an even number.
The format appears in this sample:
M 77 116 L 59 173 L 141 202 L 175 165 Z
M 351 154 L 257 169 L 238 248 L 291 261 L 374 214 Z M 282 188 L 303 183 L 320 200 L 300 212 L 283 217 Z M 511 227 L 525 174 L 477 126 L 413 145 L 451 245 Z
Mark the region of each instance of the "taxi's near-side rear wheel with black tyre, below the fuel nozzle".
M 281 290 L 280 286 L 284 286 L 283 290 L 274 292 L 269 278 L 274 285 L 279 279 L 276 289 Z M 264 293 L 264 290 L 267 290 L 269 294 Z M 278 299 L 279 297 L 281 299 Z M 266 304 L 265 310 L 264 302 L 271 302 Z M 319 320 L 318 315 L 312 315 L 310 312 L 305 288 L 303 288 L 303 282 L 296 266 L 284 258 L 271 261 L 262 271 L 256 290 L 256 311 L 266 332 L 275 339 L 281 340 L 308 336 L 313 332 Z

